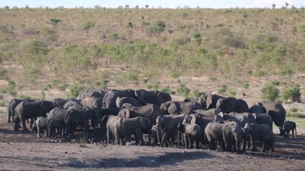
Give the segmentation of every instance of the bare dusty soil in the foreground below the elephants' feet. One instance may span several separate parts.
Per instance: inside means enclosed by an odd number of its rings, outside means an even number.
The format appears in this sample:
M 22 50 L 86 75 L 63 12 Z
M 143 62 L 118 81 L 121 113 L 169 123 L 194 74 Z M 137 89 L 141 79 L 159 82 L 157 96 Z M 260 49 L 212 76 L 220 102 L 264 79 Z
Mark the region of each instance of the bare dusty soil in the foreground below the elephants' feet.
M 305 134 L 276 135 L 275 152 L 233 152 L 154 146 L 72 143 L 64 138 L 38 139 L 30 131 L 13 131 L 0 114 L 0 169 L 3 170 L 302 170 Z M 93 130 L 91 130 L 92 132 Z M 102 131 L 99 140 L 103 141 Z M 56 141 L 56 143 L 55 143 Z

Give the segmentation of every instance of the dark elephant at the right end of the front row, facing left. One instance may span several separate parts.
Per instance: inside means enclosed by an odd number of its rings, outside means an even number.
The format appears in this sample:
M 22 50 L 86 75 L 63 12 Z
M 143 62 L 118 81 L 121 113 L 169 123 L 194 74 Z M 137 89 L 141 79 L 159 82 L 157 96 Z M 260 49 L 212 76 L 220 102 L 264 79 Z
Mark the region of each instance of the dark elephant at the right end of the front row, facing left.
M 252 140 L 252 151 L 257 151 L 257 140 L 263 142 L 262 152 L 266 151 L 266 148 L 271 148 L 271 152 L 274 151 L 274 134 L 268 124 L 249 124 L 250 136 Z

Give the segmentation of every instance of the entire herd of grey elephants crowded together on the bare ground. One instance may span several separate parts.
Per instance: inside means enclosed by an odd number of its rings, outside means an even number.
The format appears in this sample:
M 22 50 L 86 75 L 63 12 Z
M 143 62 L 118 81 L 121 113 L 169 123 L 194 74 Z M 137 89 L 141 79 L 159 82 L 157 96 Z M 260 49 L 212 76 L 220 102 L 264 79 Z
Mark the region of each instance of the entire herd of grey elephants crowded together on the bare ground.
M 274 150 L 273 122 L 280 135 L 289 136 L 296 125 L 285 121 L 286 111 L 280 103 L 256 102 L 249 107 L 243 99 L 206 93 L 199 98 L 173 101 L 169 93 L 144 89 L 87 88 L 77 99 L 55 98 L 51 101 L 13 99 L 9 104 L 8 122 L 15 122 L 14 130 L 34 135 L 42 132 L 49 137 L 71 138 L 76 131 L 100 129 L 107 134 L 107 142 L 125 144 L 134 140 L 147 144 L 186 148 L 221 148 L 223 151 L 244 151 L 246 146 L 257 151 Z M 12 117 L 12 120 L 11 120 Z M 106 127 L 106 129 L 105 129 Z M 95 135 L 93 135 L 95 136 Z M 151 142 L 153 137 L 153 142 Z

